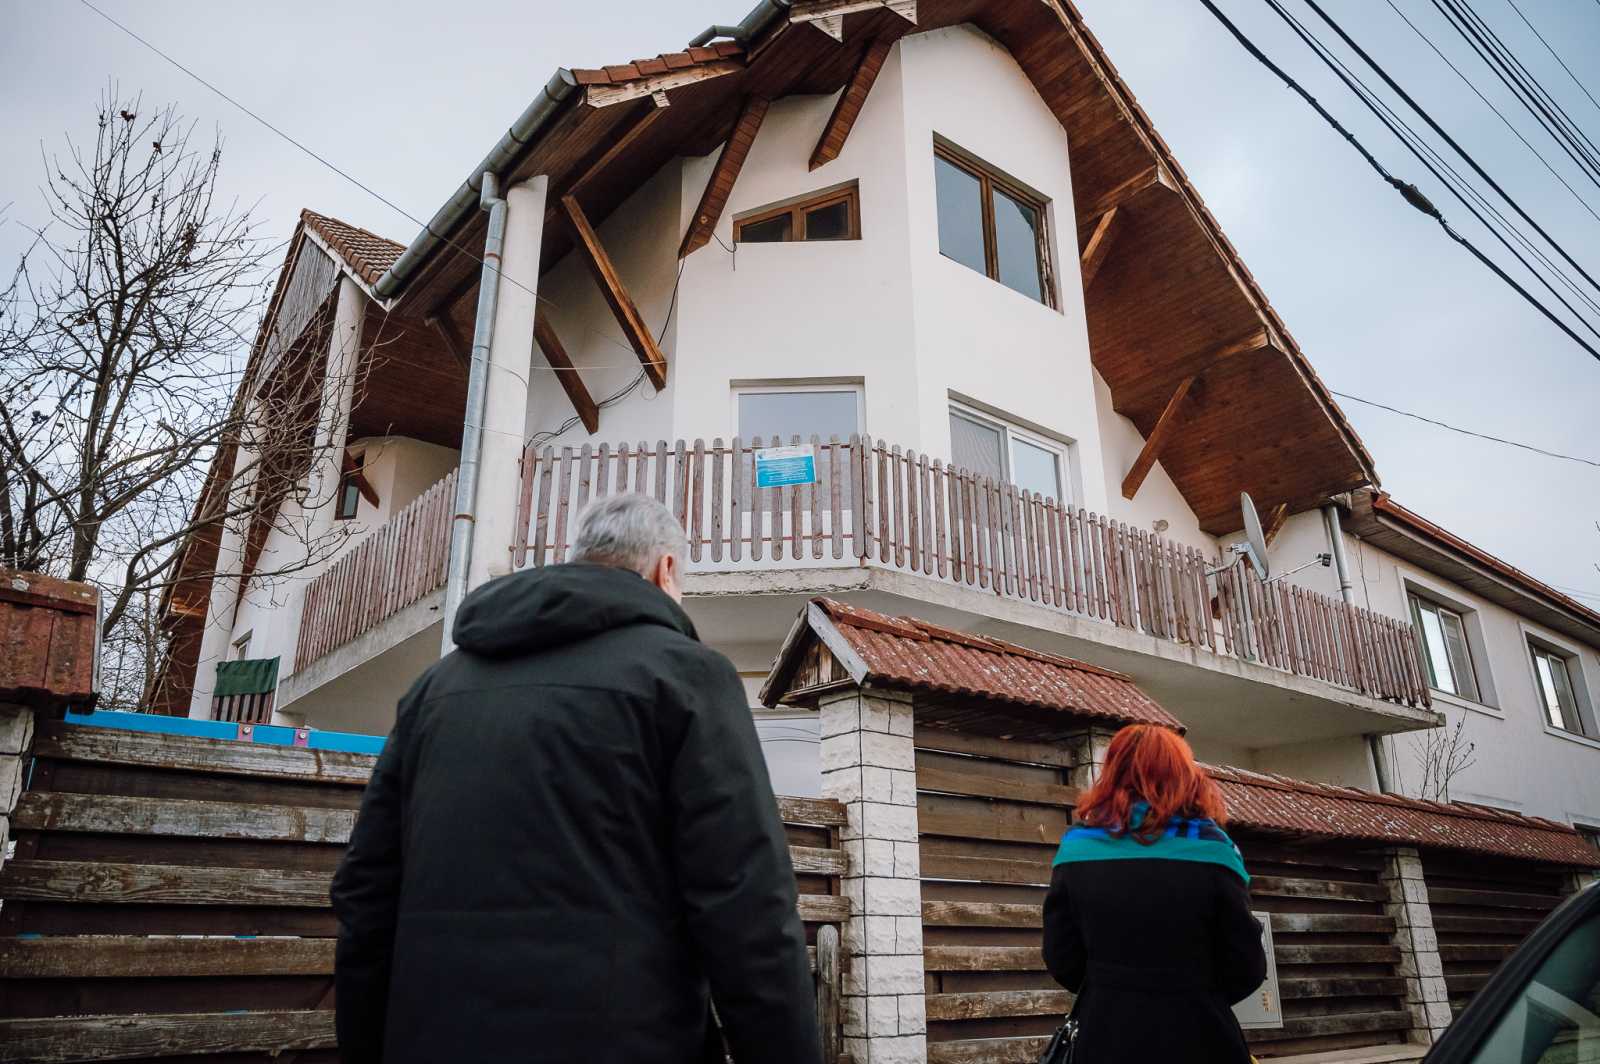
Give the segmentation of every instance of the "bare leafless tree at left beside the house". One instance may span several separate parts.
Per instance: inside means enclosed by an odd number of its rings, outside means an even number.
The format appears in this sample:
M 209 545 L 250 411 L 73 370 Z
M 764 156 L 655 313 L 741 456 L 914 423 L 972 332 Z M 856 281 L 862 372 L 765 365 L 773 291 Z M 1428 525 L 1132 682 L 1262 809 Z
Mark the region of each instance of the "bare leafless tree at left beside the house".
M 274 248 L 248 208 L 219 200 L 221 160 L 221 139 L 198 141 L 174 107 L 144 114 L 107 91 L 93 146 L 67 138 L 45 157 L 50 221 L 0 290 L 0 566 L 101 586 L 106 659 L 122 662 L 112 701 L 128 704 L 165 653 L 162 592 L 208 576 L 182 571 L 192 533 L 296 536 L 261 581 L 338 539 L 307 520 L 325 499 L 306 485 L 336 490 L 307 477 L 326 437 L 322 363 L 243 379 Z

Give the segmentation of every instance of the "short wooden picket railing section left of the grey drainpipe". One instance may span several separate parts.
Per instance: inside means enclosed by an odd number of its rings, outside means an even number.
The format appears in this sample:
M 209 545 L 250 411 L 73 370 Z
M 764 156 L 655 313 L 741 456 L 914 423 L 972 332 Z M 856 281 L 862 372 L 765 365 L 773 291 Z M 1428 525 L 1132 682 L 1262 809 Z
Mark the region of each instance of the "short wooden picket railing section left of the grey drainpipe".
M 445 586 L 456 472 L 413 499 L 306 589 L 298 667 Z

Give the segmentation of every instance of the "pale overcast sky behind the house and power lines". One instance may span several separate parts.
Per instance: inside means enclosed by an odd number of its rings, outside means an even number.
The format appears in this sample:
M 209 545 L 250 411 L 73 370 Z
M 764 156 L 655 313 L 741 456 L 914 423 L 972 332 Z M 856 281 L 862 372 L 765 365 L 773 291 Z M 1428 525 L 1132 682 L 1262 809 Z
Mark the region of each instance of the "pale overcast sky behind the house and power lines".
M 413 218 L 427 218 L 558 66 L 680 48 L 747 0 L 94 0 L 240 102 Z M 1299 0 L 1288 0 L 1312 18 Z M 1515 0 L 1600 96 L 1600 3 Z M 1090 26 L 1171 144 L 1330 387 L 1485 434 L 1600 459 L 1600 363 L 1560 334 L 1435 222 L 1406 206 L 1304 102 L 1250 59 L 1198 0 L 1080 0 Z M 1395 0 L 1600 211 L 1576 170 L 1426 0 Z M 1482 243 L 1427 178 L 1259 0 L 1222 0 L 1274 58 L 1390 170 L 1416 181 Z M 1600 277 L 1600 222 L 1379 0 L 1325 0 L 1485 168 Z M 1600 141 L 1600 109 L 1517 19 L 1477 10 Z M 107 80 L 174 101 L 226 139 L 229 195 L 264 232 L 301 206 L 400 242 L 418 224 L 264 130 L 78 0 L 0 0 L 0 264 L 43 218 L 40 149 L 93 138 Z M 1566 163 L 1566 165 L 1563 165 Z M 1597 315 L 1600 317 L 1600 315 Z M 1600 606 L 1600 469 L 1443 432 L 1344 403 L 1384 486 L 1411 509 Z

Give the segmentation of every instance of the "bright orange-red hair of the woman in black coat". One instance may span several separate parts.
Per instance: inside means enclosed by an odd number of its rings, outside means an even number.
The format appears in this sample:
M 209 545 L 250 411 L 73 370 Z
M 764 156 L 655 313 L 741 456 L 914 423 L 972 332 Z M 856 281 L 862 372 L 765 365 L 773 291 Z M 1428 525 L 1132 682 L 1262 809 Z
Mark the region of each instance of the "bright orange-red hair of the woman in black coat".
M 1160 725 L 1128 725 L 1112 738 L 1106 768 L 1078 800 L 1077 816 L 1093 827 L 1126 835 L 1136 802 L 1150 806 L 1133 830 L 1144 843 L 1155 842 L 1174 816 L 1227 822 L 1221 789 L 1195 763 L 1184 738 Z

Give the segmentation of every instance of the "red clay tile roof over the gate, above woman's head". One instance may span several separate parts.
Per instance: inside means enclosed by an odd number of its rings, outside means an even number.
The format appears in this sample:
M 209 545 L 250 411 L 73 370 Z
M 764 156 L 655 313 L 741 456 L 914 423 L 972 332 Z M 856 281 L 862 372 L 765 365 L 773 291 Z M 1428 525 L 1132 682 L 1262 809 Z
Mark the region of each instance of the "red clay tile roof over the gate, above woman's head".
M 875 685 L 968 694 L 1182 731 L 1176 717 L 1118 672 L 832 598 L 816 598 L 814 603 L 866 662 Z

